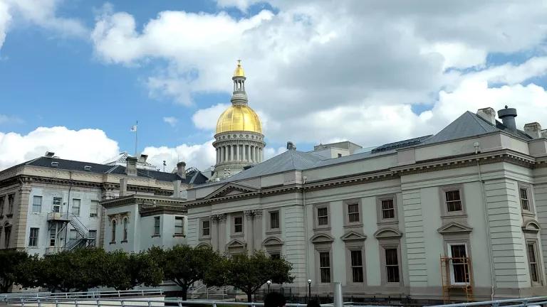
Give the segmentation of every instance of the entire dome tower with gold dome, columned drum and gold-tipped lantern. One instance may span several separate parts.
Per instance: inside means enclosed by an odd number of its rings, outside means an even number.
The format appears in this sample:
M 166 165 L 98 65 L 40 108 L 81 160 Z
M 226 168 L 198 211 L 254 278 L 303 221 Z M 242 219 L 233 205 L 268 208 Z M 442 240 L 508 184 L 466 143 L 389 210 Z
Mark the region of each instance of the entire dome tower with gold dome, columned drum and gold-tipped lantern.
M 264 135 L 259 115 L 247 105 L 245 73 L 238 61 L 231 106 L 219 117 L 213 146 L 217 151 L 215 178 L 226 178 L 264 160 Z

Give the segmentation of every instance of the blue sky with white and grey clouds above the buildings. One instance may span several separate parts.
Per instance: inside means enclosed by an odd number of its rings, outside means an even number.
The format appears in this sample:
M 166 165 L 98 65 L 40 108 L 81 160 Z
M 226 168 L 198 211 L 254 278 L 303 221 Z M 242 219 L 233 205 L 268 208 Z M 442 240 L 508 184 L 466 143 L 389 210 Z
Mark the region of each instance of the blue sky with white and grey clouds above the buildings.
M 266 158 L 435 134 L 505 105 L 547 128 L 547 1 L 0 0 L 0 169 L 54 151 L 214 164 L 241 58 Z

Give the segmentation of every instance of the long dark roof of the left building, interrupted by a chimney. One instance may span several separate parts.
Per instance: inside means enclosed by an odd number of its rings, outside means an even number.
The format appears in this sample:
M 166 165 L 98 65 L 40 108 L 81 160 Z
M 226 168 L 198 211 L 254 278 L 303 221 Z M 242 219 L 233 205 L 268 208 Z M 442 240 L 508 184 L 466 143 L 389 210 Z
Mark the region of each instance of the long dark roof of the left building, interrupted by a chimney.
M 52 162 L 57 162 L 58 166 L 52 166 L 51 165 Z M 36 158 L 31 161 L 27 161 L 25 163 L 21 163 L 20 165 L 40 166 L 40 167 L 46 167 L 46 168 L 58 168 L 58 169 L 63 169 L 67 171 L 88 171 L 90 173 L 113 173 L 113 174 L 125 175 L 125 166 L 120 166 L 120 165 L 109 166 L 109 165 L 99 164 L 99 163 L 66 160 L 61 158 L 49 158 L 44 156 L 40 158 Z M 86 170 L 85 166 L 90 166 L 89 170 Z M 152 171 L 152 170 L 137 168 L 137 176 L 154 178 L 158 181 L 172 182 L 172 181 L 180 180 L 182 182 L 189 183 L 189 181 L 192 178 L 196 177 L 197 175 L 192 177 L 187 176 L 186 180 L 182 180 L 182 178 L 180 178 L 180 176 L 178 176 L 177 173 L 164 173 L 160 171 Z M 202 179 L 199 179 L 198 181 L 202 182 Z

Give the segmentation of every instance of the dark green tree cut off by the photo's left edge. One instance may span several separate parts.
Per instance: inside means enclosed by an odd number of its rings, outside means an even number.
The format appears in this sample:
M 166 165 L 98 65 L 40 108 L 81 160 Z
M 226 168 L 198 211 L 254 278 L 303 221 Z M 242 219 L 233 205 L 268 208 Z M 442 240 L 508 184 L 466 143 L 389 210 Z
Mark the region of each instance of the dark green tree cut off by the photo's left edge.
M 18 283 L 24 264 L 31 258 L 26 252 L 0 250 L 0 293 L 6 293 L 11 286 Z

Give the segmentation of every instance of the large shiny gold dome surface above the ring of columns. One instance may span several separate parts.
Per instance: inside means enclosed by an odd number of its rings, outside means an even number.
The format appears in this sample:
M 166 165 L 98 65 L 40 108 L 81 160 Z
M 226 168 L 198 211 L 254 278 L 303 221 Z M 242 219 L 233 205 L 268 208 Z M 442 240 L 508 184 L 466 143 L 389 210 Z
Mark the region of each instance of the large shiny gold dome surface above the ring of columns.
M 261 134 L 262 124 L 259 115 L 245 104 L 231 105 L 220 115 L 217 122 L 217 134 L 229 131 L 251 131 Z

